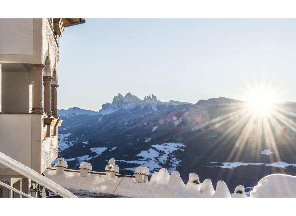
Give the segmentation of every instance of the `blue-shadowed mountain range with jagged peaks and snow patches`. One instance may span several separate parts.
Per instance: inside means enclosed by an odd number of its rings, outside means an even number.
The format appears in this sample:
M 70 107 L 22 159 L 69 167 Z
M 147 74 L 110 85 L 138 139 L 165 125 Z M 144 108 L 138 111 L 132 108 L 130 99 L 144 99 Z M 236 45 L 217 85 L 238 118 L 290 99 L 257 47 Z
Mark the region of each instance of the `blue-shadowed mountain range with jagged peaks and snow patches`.
M 224 180 L 231 190 L 237 185 L 252 187 L 271 173 L 296 174 L 296 130 L 285 122 L 271 127 L 277 134 L 276 147 L 264 133 L 258 139 L 262 126 L 250 123 L 245 104 L 225 97 L 196 104 L 161 102 L 154 95 L 142 100 L 127 93 L 118 94 L 98 112 L 61 109 L 59 156 L 72 169 L 87 161 L 93 170 L 103 171 L 115 158 L 121 174 L 133 174 L 137 166 L 148 167 L 151 174 L 165 167 L 179 171 L 186 182 L 195 172 L 201 181 L 210 178 L 214 185 Z M 295 121 L 295 103 L 281 107 Z

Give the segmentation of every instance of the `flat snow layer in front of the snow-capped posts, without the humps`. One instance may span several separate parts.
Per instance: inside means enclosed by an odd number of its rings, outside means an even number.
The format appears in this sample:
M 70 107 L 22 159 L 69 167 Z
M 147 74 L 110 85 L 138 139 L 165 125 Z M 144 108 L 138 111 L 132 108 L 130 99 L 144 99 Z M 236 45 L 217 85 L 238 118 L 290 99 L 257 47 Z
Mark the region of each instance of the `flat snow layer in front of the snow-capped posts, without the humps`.
M 196 191 L 185 188 L 174 189 L 168 185 L 159 185 L 156 182 L 136 184 L 134 178 L 118 177 L 114 181 L 107 181 L 105 175 L 92 174 L 81 177 L 77 172 L 66 172 L 66 175 L 57 176 L 54 170 L 45 170 L 44 174 L 51 180 L 58 182 L 65 188 L 83 189 L 94 193 L 106 193 L 125 197 L 200 197 Z

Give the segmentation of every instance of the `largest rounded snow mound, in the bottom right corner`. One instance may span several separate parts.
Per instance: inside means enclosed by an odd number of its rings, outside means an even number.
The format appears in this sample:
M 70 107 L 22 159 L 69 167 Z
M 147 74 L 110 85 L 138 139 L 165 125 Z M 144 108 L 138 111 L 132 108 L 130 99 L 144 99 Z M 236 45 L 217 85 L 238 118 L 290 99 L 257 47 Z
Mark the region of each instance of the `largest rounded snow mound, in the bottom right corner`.
M 296 176 L 272 174 L 263 177 L 250 192 L 251 197 L 296 197 Z

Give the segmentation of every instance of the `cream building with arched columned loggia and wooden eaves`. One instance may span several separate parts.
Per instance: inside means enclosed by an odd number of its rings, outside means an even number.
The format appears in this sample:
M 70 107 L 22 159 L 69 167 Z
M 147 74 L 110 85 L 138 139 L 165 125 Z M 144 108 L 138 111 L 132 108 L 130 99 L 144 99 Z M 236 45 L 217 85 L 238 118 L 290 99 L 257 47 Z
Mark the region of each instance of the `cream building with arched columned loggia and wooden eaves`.
M 0 19 L 0 152 L 42 174 L 57 158 L 59 37 L 84 19 Z M 0 181 L 32 182 L 0 163 Z M 33 182 L 34 183 L 34 182 Z M 0 197 L 21 196 L 0 186 Z

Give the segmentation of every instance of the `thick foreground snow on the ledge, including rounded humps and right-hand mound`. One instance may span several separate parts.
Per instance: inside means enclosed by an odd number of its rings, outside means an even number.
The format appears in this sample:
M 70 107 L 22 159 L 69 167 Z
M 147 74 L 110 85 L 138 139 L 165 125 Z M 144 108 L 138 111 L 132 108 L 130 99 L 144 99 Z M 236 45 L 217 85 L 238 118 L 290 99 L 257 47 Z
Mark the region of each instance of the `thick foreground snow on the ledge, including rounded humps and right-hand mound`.
M 118 177 L 114 181 L 107 181 L 105 173 L 101 172 L 82 177 L 79 171 L 65 171 L 63 175 L 56 175 L 55 169 L 46 169 L 44 174 L 64 188 L 98 194 L 123 197 L 231 197 L 223 181 L 218 181 L 214 190 L 210 179 L 199 183 L 197 174 L 190 173 L 189 181 L 185 185 L 177 171 L 169 175 L 166 169 L 154 173 L 150 182 L 146 183 L 136 183 L 131 177 Z M 232 197 L 247 197 L 242 185 L 237 186 L 232 193 Z M 296 197 L 296 177 L 284 174 L 268 175 L 258 182 L 250 192 L 250 197 Z

